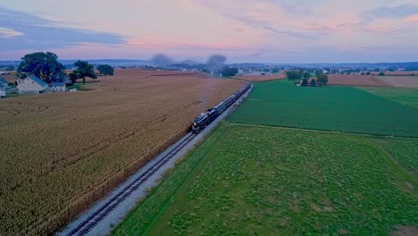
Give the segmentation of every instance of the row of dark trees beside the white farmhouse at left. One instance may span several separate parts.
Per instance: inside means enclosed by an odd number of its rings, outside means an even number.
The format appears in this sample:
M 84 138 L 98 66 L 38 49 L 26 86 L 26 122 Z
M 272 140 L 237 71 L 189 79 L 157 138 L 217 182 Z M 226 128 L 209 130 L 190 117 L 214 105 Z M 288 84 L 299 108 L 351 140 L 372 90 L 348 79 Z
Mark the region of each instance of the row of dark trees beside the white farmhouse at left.
M 74 63 L 75 69 L 68 75 L 64 72 L 65 67 L 58 62 L 58 56 L 50 52 L 39 52 L 25 55 L 21 58 L 21 63 L 17 67 L 17 73 L 20 78 L 26 78 L 35 75 L 46 83 L 64 82 L 66 78 L 71 80 L 71 84 L 78 79 L 86 83 L 86 78 L 97 79 L 95 68 L 92 64 L 83 61 Z M 108 64 L 97 66 L 98 75 L 112 76 L 113 67 Z

